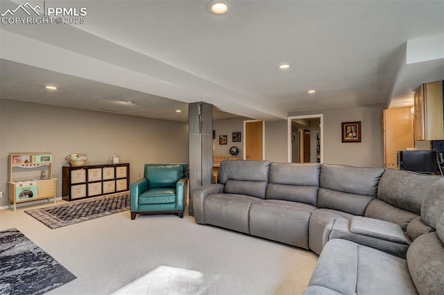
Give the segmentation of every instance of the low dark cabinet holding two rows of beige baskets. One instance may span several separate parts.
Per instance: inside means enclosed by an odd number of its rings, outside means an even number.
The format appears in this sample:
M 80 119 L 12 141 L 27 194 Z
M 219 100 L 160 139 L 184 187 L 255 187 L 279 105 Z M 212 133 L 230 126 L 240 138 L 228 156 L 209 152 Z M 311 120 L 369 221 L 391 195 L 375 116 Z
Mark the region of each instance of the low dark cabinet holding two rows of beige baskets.
M 129 190 L 130 164 L 63 166 L 63 199 L 73 201 Z

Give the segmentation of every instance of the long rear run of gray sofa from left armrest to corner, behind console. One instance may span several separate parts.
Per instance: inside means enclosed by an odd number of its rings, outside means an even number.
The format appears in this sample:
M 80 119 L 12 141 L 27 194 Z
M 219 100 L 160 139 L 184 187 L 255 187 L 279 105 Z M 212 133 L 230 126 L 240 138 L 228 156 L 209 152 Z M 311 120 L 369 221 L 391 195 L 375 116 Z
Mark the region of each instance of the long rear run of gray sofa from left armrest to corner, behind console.
M 440 188 L 433 186 L 440 179 L 384 168 L 223 161 L 218 184 L 197 188 L 191 197 L 199 224 L 320 254 L 325 225 L 332 219 L 349 222 L 354 216 L 365 216 L 399 224 L 403 231 L 412 223 L 410 240 L 433 230 L 419 213 L 429 189 L 440 199 Z M 379 199 L 379 194 L 391 204 Z M 401 248 L 405 255 L 405 247 Z

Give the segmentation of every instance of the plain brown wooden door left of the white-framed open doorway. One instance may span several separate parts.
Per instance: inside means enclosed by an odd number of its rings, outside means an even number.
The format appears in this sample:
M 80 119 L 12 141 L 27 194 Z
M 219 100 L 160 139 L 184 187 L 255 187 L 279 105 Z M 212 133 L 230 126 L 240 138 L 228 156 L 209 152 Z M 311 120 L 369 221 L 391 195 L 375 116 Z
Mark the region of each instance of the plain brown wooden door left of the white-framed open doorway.
M 244 121 L 244 160 L 263 160 L 265 157 L 265 122 Z

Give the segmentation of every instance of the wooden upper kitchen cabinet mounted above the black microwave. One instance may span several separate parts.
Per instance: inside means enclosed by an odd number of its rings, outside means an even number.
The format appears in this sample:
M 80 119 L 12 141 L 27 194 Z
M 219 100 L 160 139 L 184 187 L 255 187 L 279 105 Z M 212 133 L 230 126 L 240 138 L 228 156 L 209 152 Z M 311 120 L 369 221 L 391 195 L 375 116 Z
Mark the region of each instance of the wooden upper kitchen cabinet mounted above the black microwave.
M 422 84 L 414 95 L 414 139 L 444 139 L 443 81 Z

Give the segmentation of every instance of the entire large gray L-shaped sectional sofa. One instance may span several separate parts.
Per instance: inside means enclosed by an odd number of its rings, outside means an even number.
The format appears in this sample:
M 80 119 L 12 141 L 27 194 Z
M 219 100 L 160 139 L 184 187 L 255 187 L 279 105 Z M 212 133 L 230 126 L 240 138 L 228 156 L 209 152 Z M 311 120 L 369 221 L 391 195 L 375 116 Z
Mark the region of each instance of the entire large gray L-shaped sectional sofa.
M 223 161 L 218 183 L 191 197 L 199 224 L 321 254 L 307 294 L 444 294 L 442 244 L 425 241 L 436 237 L 443 194 L 443 177 L 403 170 Z M 431 279 L 420 270 L 429 251 L 443 258 L 432 267 L 441 276 Z M 418 276 L 407 268 L 413 261 Z

